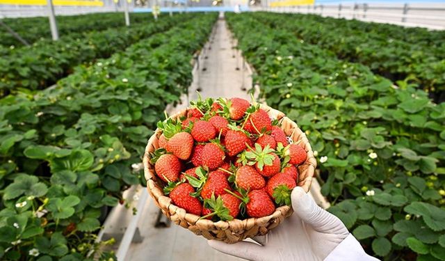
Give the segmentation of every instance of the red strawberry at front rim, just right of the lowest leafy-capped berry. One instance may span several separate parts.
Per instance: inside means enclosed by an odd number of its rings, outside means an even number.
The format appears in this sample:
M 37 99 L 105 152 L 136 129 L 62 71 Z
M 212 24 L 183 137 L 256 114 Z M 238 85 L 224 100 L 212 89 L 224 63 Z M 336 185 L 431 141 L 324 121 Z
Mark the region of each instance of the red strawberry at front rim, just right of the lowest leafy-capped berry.
M 254 190 L 248 193 L 249 202 L 246 205 L 248 215 L 255 218 L 268 216 L 275 211 L 275 205 L 270 200 L 268 194 L 261 190 Z

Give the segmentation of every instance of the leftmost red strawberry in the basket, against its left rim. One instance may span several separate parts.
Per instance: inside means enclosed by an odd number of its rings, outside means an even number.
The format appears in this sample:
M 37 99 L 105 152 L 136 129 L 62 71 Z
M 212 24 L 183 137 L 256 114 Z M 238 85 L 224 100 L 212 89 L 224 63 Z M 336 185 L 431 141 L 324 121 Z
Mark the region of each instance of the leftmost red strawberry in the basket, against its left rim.
M 162 155 L 154 164 L 154 171 L 156 171 L 156 175 L 161 180 L 175 182 L 178 180 L 179 173 L 181 172 L 181 161 L 172 154 Z

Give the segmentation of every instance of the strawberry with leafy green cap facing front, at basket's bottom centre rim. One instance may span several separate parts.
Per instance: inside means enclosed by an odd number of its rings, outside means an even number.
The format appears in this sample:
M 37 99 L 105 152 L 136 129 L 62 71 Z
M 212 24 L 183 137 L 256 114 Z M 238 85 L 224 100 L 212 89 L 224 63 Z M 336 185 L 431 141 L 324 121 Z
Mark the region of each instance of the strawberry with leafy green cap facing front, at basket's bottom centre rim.
M 236 198 L 236 196 L 227 193 L 218 196 L 218 198 L 216 198 L 215 195 L 212 195 L 211 198 L 204 200 L 204 205 L 211 209 L 211 213 L 202 216 L 201 219 L 207 219 L 217 215 L 223 221 L 232 220 L 239 214 L 240 203 L 241 200 Z

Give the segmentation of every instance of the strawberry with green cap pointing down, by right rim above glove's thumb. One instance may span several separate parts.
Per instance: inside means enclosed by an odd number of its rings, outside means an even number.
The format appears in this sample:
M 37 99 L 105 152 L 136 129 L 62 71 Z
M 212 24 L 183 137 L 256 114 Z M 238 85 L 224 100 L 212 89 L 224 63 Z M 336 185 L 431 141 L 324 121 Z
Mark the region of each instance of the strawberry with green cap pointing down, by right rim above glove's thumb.
M 291 205 L 292 189 L 296 187 L 295 180 L 286 173 L 278 173 L 267 182 L 267 193 L 275 199 L 278 205 Z

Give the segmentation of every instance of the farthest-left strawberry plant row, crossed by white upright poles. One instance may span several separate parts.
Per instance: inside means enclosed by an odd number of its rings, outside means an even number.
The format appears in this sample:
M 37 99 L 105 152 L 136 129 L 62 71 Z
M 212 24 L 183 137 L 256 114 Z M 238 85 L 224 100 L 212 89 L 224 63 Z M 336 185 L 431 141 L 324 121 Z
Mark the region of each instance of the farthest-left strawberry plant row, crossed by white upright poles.
M 143 22 L 149 20 L 151 15 L 131 14 L 131 22 Z M 32 44 L 40 39 L 51 39 L 48 17 L 29 18 L 4 18 L 3 23 L 18 33 L 26 42 Z M 100 31 L 116 26 L 124 26 L 123 13 L 95 13 L 89 15 L 70 15 L 56 17 L 58 32 L 61 36 L 76 34 L 84 31 Z M 0 29 L 0 45 L 13 49 L 22 47 L 22 42 L 8 33 L 6 29 Z

